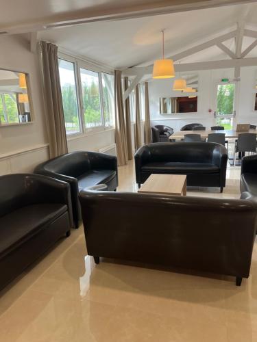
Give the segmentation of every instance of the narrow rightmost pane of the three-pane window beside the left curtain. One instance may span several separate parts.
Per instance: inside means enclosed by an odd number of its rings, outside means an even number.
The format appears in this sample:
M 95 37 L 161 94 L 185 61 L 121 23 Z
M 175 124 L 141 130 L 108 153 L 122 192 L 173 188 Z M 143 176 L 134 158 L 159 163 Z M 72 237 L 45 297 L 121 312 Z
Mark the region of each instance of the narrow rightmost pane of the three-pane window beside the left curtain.
M 114 76 L 102 73 L 103 116 L 106 127 L 114 127 Z

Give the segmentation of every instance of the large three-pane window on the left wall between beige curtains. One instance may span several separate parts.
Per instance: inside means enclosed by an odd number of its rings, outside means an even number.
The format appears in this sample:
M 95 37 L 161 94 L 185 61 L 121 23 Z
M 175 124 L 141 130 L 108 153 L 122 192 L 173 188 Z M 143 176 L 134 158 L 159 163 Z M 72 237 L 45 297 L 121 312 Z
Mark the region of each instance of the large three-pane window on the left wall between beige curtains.
M 114 76 L 59 58 L 66 134 L 114 126 Z

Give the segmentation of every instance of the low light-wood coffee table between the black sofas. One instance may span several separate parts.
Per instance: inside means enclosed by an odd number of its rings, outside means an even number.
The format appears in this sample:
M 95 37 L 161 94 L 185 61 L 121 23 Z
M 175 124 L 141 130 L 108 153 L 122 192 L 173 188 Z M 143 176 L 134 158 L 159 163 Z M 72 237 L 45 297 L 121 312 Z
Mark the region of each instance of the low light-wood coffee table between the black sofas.
M 186 196 L 186 175 L 151 174 L 138 192 L 147 194 Z

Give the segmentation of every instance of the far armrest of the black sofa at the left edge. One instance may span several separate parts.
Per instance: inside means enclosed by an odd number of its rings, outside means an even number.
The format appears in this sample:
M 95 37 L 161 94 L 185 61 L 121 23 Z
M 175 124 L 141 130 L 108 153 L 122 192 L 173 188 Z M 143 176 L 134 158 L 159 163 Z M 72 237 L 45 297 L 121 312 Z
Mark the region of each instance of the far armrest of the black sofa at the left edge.
M 70 225 L 73 225 L 71 187 L 69 183 L 40 174 L 27 176 L 27 196 L 32 203 L 60 203 L 67 206 Z

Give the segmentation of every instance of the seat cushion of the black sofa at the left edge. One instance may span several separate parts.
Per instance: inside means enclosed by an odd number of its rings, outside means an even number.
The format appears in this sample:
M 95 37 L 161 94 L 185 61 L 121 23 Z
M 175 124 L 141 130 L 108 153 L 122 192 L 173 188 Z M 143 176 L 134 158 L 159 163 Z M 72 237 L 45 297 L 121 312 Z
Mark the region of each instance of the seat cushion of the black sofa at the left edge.
M 66 205 L 22 207 L 0 218 L 0 258 L 8 254 L 67 211 Z

